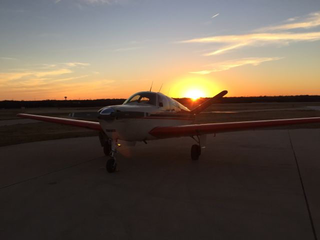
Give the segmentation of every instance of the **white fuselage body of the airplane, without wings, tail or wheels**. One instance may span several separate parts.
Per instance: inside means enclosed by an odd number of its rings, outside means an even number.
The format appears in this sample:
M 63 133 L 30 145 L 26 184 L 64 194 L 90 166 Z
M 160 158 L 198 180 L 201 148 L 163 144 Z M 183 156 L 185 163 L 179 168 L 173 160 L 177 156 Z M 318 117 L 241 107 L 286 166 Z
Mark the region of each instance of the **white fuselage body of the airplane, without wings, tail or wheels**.
M 155 99 L 152 104 L 142 100 L 141 102 L 128 101 L 135 94 L 142 96 L 146 94 Z M 148 132 L 154 127 L 186 125 L 194 121 L 194 116 L 188 114 L 189 110 L 186 107 L 162 93 L 138 92 L 135 94 L 122 105 L 107 106 L 99 110 L 102 116 L 104 111 L 107 113 L 106 118 L 99 118 L 99 123 L 108 138 L 125 141 L 153 140 L 157 138 Z M 124 115 L 117 115 L 120 113 Z

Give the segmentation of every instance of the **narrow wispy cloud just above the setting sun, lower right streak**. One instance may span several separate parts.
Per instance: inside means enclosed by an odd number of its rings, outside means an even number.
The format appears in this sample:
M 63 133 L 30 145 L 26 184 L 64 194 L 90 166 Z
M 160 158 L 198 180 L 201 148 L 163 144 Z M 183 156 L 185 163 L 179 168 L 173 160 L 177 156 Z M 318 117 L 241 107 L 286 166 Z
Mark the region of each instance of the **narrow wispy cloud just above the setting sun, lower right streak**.
M 246 58 L 216 62 L 216 63 L 210 64 L 210 65 L 207 65 L 210 67 L 210 69 L 208 69 L 208 70 L 191 71 L 189 73 L 204 75 L 204 74 L 209 74 L 211 72 L 216 72 L 216 71 L 225 71 L 230 68 L 242 66 L 242 65 L 256 66 L 264 61 L 274 61 L 274 60 L 279 60 L 282 58 L 283 57 L 246 57 Z

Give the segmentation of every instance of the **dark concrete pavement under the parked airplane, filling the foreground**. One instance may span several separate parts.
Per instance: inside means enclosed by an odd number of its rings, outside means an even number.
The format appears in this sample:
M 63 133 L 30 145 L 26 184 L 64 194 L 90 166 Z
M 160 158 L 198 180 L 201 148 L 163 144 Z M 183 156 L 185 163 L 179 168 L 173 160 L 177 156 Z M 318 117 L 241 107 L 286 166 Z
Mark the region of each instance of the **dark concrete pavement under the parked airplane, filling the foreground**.
M 97 137 L 0 147 L 0 239 L 314 239 L 320 129 L 122 147 L 108 174 Z

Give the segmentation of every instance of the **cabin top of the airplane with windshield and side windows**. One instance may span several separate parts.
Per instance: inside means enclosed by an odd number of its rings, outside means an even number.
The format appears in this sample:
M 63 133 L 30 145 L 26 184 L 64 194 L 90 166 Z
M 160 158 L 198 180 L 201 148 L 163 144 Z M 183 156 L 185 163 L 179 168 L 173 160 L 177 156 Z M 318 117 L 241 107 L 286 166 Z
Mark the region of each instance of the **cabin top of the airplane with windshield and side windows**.
M 149 104 L 156 107 L 160 107 L 165 111 L 179 112 L 189 111 L 188 108 L 177 102 L 176 100 L 167 97 L 160 92 L 153 91 L 139 91 L 131 95 L 126 99 L 123 104 Z

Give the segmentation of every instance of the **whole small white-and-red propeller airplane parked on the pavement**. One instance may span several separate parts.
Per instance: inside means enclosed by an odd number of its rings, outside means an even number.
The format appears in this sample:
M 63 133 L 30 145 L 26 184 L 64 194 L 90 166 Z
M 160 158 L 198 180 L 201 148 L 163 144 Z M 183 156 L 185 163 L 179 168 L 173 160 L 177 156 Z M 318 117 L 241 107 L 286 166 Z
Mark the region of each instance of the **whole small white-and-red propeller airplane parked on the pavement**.
M 19 113 L 17 116 L 41 121 L 90 128 L 99 131 L 99 140 L 104 154 L 110 156 L 105 168 L 108 172 L 116 170 L 115 153 L 120 146 L 118 140 L 131 142 L 163 139 L 169 137 L 192 137 L 197 144 L 191 146 L 192 160 L 197 160 L 201 148 L 205 146 L 206 134 L 272 127 L 288 124 L 320 122 L 320 117 L 258 120 L 242 122 L 221 122 L 193 124 L 195 117 L 202 110 L 219 100 L 227 93 L 221 91 L 205 102 L 189 110 L 176 100 L 160 92 L 139 91 L 132 94 L 121 105 L 105 106 L 97 112 L 74 112 L 71 117 L 96 117 L 98 122 L 69 118 L 40 116 Z

